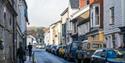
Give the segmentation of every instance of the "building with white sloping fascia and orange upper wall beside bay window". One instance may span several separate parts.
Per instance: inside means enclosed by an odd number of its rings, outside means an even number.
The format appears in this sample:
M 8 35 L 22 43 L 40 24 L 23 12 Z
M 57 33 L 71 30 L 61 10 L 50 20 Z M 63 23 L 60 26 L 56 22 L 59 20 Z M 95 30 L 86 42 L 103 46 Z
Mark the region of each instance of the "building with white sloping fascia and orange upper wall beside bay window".
M 71 15 L 71 37 L 72 41 L 87 40 L 87 33 L 90 27 L 90 6 L 89 0 L 79 0 L 78 10 Z

